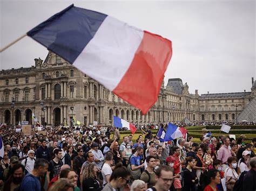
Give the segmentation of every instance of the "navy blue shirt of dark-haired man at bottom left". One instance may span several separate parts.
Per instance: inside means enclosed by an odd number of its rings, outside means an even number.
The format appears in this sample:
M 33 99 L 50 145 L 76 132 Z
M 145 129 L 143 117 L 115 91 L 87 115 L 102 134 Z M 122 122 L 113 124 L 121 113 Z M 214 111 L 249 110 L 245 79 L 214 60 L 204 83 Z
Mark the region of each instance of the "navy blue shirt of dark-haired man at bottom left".
M 28 173 L 25 175 L 24 179 L 22 180 L 20 191 L 41 191 L 41 185 L 39 178 Z

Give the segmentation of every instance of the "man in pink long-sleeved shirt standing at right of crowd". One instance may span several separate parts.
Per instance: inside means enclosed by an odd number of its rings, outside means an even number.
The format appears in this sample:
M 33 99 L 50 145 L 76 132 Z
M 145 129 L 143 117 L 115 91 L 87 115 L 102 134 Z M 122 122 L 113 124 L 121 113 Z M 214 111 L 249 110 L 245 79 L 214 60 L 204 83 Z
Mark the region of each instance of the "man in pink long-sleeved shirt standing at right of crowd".
M 223 138 L 223 146 L 219 149 L 219 154 L 217 159 L 221 160 L 223 162 L 223 168 L 224 170 L 227 167 L 227 159 L 228 157 L 232 157 L 231 151 L 228 148 L 230 146 L 230 139 L 228 137 Z

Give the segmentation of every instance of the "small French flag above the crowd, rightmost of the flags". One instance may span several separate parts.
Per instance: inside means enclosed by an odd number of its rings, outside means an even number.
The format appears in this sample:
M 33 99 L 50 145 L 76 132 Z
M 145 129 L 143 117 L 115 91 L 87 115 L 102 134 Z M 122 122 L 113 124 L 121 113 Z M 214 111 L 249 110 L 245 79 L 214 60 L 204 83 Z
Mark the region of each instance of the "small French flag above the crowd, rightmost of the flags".
M 185 128 L 178 128 L 178 126 L 169 122 L 165 133 L 164 142 L 168 142 L 169 140 L 174 140 L 180 137 L 185 138 L 186 133 L 187 130 Z

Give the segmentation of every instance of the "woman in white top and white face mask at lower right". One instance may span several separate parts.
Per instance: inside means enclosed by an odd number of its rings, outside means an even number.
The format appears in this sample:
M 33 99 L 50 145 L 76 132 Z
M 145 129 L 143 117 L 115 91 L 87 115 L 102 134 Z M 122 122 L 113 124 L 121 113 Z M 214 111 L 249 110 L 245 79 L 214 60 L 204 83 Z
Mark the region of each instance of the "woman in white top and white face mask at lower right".
M 227 182 L 227 190 L 233 190 L 235 181 L 238 180 L 238 174 L 235 172 L 237 168 L 237 158 L 228 157 L 228 167 L 225 169 L 225 181 Z

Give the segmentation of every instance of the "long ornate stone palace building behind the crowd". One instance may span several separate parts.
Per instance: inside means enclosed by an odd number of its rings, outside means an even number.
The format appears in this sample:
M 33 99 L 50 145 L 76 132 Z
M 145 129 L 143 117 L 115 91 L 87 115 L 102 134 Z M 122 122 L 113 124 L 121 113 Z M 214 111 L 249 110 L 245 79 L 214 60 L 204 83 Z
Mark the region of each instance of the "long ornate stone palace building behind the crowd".
M 0 122 L 34 124 L 32 114 L 48 125 L 70 125 L 72 118 L 86 125 L 113 124 L 113 115 L 133 124 L 179 122 L 185 117 L 192 122 L 235 121 L 255 95 L 253 78 L 251 92 L 202 95 L 198 90 L 190 94 L 179 78 L 169 79 L 166 87 L 163 81 L 158 101 L 142 115 L 49 51 L 44 61 L 35 59 L 35 66 L 0 71 Z

